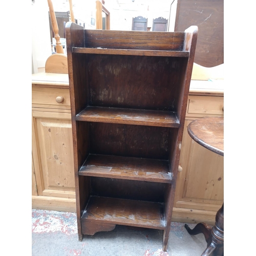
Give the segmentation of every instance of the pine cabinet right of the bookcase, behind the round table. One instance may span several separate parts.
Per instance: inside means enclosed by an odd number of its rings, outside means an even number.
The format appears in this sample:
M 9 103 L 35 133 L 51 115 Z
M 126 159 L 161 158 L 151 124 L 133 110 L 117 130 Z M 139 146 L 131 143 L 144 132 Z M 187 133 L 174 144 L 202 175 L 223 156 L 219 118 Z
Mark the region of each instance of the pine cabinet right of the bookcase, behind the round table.
M 208 89 L 205 95 L 203 90 L 193 93 L 190 88 L 180 156 L 182 172 L 177 177 L 173 221 L 215 224 L 224 198 L 224 158 L 191 139 L 187 126 L 198 118 L 223 115 L 223 92 Z

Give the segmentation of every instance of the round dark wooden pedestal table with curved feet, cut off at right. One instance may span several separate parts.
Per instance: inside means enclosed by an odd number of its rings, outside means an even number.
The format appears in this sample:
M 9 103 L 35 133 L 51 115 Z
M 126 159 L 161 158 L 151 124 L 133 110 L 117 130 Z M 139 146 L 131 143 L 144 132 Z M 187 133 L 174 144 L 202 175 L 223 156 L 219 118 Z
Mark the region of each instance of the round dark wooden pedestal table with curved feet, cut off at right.
M 223 117 L 196 119 L 189 123 L 187 132 L 198 144 L 224 157 Z M 212 228 L 203 222 L 198 223 L 193 229 L 185 224 L 185 228 L 189 234 L 204 234 L 207 248 L 201 256 L 224 255 L 224 203 L 216 214 L 216 222 Z

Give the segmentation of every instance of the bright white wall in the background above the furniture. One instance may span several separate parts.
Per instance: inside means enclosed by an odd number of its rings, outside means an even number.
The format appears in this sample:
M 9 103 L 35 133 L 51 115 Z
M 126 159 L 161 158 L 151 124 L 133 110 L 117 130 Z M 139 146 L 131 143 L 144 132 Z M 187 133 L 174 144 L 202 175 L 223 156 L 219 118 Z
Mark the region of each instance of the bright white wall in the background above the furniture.
M 76 19 L 86 23 L 86 29 L 91 26 L 91 18 L 96 16 L 96 0 L 72 0 Z M 105 6 L 110 11 L 111 30 L 132 30 L 132 18 L 143 16 L 148 18 L 148 27 L 152 27 L 153 18 L 169 19 L 170 4 L 173 0 L 105 0 Z M 69 11 L 68 0 L 52 0 L 54 11 Z M 177 0 L 171 9 L 169 31 L 174 31 Z M 47 58 L 52 54 L 49 24 L 49 7 L 47 0 L 35 0 L 32 4 L 32 73 L 37 73 L 45 67 Z M 95 23 L 96 24 L 96 23 Z

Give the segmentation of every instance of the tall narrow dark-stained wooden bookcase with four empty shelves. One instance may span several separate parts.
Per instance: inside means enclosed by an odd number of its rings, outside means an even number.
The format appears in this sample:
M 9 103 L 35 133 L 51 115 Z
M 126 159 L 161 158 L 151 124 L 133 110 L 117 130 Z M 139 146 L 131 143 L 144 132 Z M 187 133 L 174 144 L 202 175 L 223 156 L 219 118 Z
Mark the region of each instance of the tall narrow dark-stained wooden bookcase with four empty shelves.
M 116 225 L 167 249 L 197 27 L 66 27 L 79 240 Z

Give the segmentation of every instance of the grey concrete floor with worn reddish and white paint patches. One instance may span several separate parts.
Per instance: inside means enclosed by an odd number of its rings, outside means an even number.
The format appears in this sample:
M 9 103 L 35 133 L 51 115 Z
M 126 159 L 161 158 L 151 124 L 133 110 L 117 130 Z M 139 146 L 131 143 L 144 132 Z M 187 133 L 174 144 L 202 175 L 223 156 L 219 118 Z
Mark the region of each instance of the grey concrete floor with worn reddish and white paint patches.
M 162 231 L 156 229 L 116 226 L 79 242 L 76 214 L 32 210 L 32 256 L 200 256 L 205 248 L 203 234 L 190 236 L 184 223 L 178 222 L 172 222 L 166 252 Z

